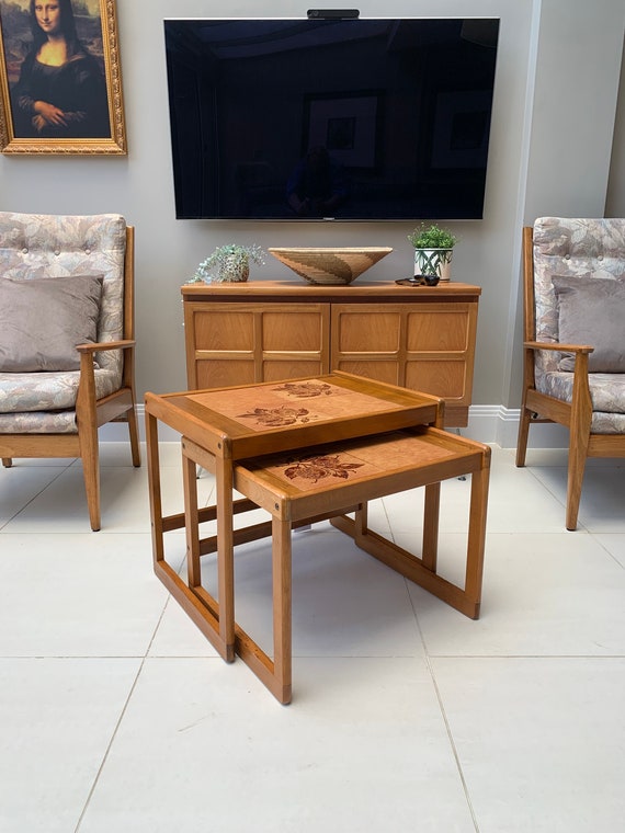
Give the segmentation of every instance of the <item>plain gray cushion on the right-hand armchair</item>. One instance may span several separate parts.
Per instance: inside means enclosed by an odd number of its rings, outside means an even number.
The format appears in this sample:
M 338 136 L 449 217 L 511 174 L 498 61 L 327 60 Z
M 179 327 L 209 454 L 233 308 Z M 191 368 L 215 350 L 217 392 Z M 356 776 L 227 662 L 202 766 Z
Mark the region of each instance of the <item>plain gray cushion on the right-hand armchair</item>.
M 625 373 L 625 279 L 554 275 L 558 300 L 558 341 L 590 344 L 592 373 Z M 572 370 L 575 356 L 565 353 L 560 370 Z

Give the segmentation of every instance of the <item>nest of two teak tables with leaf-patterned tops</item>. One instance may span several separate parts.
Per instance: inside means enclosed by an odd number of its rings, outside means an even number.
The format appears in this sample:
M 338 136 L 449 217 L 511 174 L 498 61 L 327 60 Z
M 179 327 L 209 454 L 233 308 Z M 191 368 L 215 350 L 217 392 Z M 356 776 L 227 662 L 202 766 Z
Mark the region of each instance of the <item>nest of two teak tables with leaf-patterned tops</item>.
M 146 395 L 154 566 L 157 577 L 219 654 L 238 654 L 281 703 L 291 701 L 291 532 L 331 518 L 359 547 L 477 618 L 486 535 L 490 449 L 441 430 L 440 399 L 334 372 L 291 381 Z M 162 515 L 158 421 L 182 435 L 184 513 Z M 200 509 L 196 466 L 215 475 L 214 506 Z M 471 473 L 464 589 L 436 573 L 441 481 Z M 425 487 L 422 555 L 367 527 L 367 501 Z M 243 499 L 234 501 L 236 489 Z M 271 522 L 234 528 L 262 507 Z M 348 517 L 346 513 L 354 513 Z M 200 538 L 200 524 L 217 535 Z M 185 528 L 188 580 L 164 557 L 167 532 Z M 272 536 L 273 659 L 235 619 L 235 546 Z M 217 552 L 218 600 L 200 559 Z

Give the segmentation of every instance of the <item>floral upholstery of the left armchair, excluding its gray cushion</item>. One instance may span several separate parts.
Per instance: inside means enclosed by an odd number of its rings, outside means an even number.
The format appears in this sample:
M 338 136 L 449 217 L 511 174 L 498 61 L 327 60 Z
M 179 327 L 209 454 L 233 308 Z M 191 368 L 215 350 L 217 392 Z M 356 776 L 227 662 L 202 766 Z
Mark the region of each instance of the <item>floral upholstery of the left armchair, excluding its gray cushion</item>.
M 98 341 L 123 336 L 126 222 L 121 215 L 0 212 L 0 279 L 102 274 Z M 122 354 L 95 355 L 96 398 L 122 384 Z M 0 373 L 0 433 L 76 433 L 79 372 Z

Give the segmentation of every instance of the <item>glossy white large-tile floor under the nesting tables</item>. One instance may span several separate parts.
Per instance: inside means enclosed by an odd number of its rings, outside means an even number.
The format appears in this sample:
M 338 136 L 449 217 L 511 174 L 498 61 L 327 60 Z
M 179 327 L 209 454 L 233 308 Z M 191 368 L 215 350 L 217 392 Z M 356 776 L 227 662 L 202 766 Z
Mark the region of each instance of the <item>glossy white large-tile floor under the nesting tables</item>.
M 175 444 L 163 461 L 178 511 Z M 479 621 L 327 524 L 297 534 L 287 707 L 154 577 L 147 472 L 125 446 L 103 447 L 96 534 L 79 464 L 1 469 L 0 831 L 623 830 L 625 467 L 589 464 L 567 533 L 564 454 L 529 463 L 493 449 Z M 467 495 L 444 484 L 454 579 Z M 388 498 L 372 517 L 406 545 L 419 502 Z M 168 540 L 182 567 L 182 534 Z M 237 559 L 238 618 L 261 642 L 268 555 L 257 543 Z

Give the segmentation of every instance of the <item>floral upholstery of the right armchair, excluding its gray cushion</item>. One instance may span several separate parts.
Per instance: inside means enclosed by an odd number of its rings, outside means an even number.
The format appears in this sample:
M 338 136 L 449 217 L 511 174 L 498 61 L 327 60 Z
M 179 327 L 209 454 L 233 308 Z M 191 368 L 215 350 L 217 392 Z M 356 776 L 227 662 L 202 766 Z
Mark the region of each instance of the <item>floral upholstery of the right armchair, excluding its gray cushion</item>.
M 558 341 L 558 312 L 553 275 L 618 277 L 625 275 L 625 219 L 541 217 L 534 224 L 536 341 Z M 562 354 L 535 353 L 536 390 L 571 401 L 572 373 L 558 369 Z M 589 374 L 593 403 L 591 432 L 625 434 L 625 374 Z

